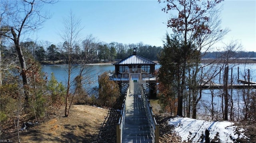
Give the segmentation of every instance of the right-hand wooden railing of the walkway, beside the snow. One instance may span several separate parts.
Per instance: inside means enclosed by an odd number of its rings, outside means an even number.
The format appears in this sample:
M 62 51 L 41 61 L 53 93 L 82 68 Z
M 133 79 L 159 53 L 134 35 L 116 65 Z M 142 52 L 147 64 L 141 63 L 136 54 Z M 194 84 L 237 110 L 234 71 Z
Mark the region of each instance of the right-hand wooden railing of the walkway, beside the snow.
M 153 141 L 159 143 L 159 124 L 156 123 L 156 118 L 153 113 L 152 107 L 150 106 L 150 101 L 146 97 L 146 90 L 142 84 L 142 99 L 144 100 L 145 107 L 147 109 L 147 118 L 150 124 L 150 132 L 153 135 Z

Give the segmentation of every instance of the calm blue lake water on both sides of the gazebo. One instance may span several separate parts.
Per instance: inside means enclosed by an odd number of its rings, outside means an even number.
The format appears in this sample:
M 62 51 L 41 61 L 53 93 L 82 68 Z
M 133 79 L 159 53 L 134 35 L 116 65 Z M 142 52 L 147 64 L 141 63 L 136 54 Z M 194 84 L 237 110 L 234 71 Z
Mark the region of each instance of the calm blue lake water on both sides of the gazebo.
M 229 67 L 233 68 L 233 77 L 234 77 L 234 84 L 238 84 L 237 81 L 237 72 L 239 67 L 239 76 L 240 79 L 243 79 L 242 76 L 248 75 L 248 69 L 250 69 L 250 81 L 256 82 L 256 64 L 241 64 L 241 65 L 229 65 Z M 51 73 L 54 73 L 55 78 L 58 82 L 62 82 L 64 85 L 68 79 L 67 73 L 67 65 L 47 65 L 42 67 L 42 71 L 48 74 L 48 79 L 50 79 Z M 156 65 L 156 69 L 159 69 L 160 65 Z M 112 70 L 114 71 L 114 65 L 88 65 L 84 72 L 84 77 L 86 78 L 85 86 L 87 88 L 98 86 L 98 75 L 102 74 L 105 71 Z M 74 79 L 75 76 L 79 74 L 79 67 L 75 67 L 73 72 L 73 76 L 71 77 Z M 229 71 L 231 74 L 231 71 Z M 221 72 L 221 80 L 219 80 L 219 75 L 216 76 L 216 79 L 213 79 L 215 83 L 222 82 L 223 71 Z M 231 76 L 230 76 L 231 77 Z M 230 78 L 229 77 L 229 78 Z M 221 116 L 221 95 L 222 90 L 214 90 L 214 111 L 216 112 L 216 116 Z M 231 91 L 229 91 L 231 95 Z M 242 91 L 241 90 L 234 90 L 233 91 L 233 101 L 234 101 L 234 110 L 235 116 L 243 116 L 243 111 L 241 111 L 242 107 L 244 106 L 242 100 Z M 203 90 L 202 98 L 198 103 L 198 117 L 203 117 L 202 119 L 206 119 L 206 114 L 210 114 L 211 110 L 211 92 L 210 90 Z M 200 116 L 201 114 L 201 116 Z

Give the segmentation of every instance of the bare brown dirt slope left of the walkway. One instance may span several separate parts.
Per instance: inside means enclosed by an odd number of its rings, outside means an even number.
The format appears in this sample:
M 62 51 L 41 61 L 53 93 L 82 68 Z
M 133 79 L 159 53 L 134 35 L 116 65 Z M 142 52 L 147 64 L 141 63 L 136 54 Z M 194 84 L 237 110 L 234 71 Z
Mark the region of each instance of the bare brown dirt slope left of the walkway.
M 21 143 L 91 143 L 98 137 L 107 113 L 108 109 L 74 105 L 69 117 L 62 117 L 64 109 L 61 108 L 53 112 L 54 118 L 20 131 Z M 18 142 L 17 133 L 9 137 Z

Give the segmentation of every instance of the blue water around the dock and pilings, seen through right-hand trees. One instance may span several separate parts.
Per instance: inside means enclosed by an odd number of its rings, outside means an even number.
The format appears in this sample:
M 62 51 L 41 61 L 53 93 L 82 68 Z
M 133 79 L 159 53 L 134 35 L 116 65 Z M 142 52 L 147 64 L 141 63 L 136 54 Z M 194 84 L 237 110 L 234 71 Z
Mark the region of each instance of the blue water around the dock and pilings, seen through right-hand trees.
M 238 67 L 239 67 L 239 79 L 244 80 L 244 77 L 248 76 L 248 69 L 250 70 L 250 81 L 256 82 L 256 64 L 240 64 L 240 65 L 234 65 L 230 64 L 229 68 L 233 69 L 233 84 L 242 84 L 238 83 Z M 217 75 L 216 78 L 214 78 L 212 81 L 214 81 L 216 84 L 223 84 L 223 73 L 224 71 L 221 71 L 220 75 Z M 229 70 L 229 81 L 231 79 L 231 69 Z M 207 76 L 207 75 L 206 75 Z M 245 92 L 252 92 L 255 91 L 252 89 L 245 89 Z M 202 91 L 202 98 L 198 102 L 198 119 L 211 119 L 211 110 L 212 110 L 212 101 L 214 103 L 214 116 L 217 117 L 217 119 L 222 118 L 222 95 L 224 91 L 223 89 L 214 89 L 214 90 L 203 90 Z M 244 100 L 243 95 L 244 91 L 243 89 L 228 89 L 229 94 L 229 107 L 228 110 L 230 110 L 231 105 L 231 99 L 233 100 L 233 112 L 234 112 L 234 120 L 239 120 L 244 118 Z M 213 100 L 212 100 L 213 95 Z M 231 98 L 232 96 L 232 98 Z M 228 113 L 229 116 L 230 113 Z M 215 118 L 216 119 L 216 118 Z

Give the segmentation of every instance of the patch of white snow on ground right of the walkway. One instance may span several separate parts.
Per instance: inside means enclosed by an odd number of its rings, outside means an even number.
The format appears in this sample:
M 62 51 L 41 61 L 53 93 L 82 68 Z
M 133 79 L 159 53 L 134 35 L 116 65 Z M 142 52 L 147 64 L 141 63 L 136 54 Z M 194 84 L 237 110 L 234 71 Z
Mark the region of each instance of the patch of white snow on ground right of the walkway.
M 204 143 L 203 137 L 206 129 L 210 131 L 210 140 L 218 137 L 220 143 L 233 143 L 233 140 L 242 137 L 238 136 L 236 126 L 230 121 L 205 121 L 175 117 L 170 119 L 169 124 L 174 125 L 182 141 L 190 143 Z

